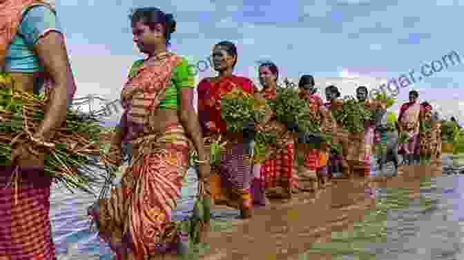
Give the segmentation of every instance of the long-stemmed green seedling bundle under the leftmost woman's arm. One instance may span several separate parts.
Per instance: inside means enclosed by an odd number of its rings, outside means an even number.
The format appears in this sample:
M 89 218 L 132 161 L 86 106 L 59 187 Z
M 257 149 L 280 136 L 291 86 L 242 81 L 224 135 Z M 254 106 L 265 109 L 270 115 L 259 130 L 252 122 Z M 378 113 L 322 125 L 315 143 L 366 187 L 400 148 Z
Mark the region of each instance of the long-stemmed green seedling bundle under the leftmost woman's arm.
M 10 143 L 26 140 L 29 134 L 37 130 L 45 118 L 45 95 L 35 95 L 21 90 L 0 89 L 0 163 L 12 165 Z M 99 121 L 86 114 L 68 110 L 66 122 L 54 130 L 52 146 L 44 149 L 45 174 L 53 177 L 57 184 L 62 184 L 71 192 L 83 190 L 90 194 L 93 185 L 104 177 L 101 171 Z M 19 144 L 20 145 L 20 144 Z M 14 145 L 13 145 L 14 147 Z M 14 162 L 13 162 L 14 163 Z M 14 178 L 18 184 L 20 176 Z

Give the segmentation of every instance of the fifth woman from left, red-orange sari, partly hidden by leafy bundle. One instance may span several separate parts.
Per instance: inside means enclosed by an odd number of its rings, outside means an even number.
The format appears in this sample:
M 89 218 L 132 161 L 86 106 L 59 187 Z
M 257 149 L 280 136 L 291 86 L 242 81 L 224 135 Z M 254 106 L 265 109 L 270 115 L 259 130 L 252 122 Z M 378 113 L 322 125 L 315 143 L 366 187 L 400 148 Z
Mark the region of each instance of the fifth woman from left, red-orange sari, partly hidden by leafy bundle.
M 303 75 L 298 83 L 300 99 L 305 99 L 309 103 L 309 110 L 311 112 L 311 121 L 322 121 L 322 99 L 317 94 L 315 88 L 314 78 L 311 75 Z M 306 146 L 306 145 L 305 145 Z M 310 171 L 315 171 L 318 180 L 322 186 L 327 186 L 329 183 L 329 172 L 327 169 L 327 145 L 321 148 L 305 149 L 304 164 Z

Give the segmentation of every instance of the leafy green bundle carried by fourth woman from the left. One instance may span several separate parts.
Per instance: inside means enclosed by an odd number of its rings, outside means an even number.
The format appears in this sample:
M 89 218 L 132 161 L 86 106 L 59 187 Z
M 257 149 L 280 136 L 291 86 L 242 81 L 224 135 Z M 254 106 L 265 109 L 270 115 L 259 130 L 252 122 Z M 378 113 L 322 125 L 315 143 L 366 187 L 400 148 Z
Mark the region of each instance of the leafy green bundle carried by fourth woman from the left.
M 299 132 L 320 132 L 320 121 L 311 120 L 309 104 L 298 97 L 295 88 L 277 88 L 276 99 L 268 100 L 269 107 L 276 113 L 276 119 L 282 123 L 298 123 Z

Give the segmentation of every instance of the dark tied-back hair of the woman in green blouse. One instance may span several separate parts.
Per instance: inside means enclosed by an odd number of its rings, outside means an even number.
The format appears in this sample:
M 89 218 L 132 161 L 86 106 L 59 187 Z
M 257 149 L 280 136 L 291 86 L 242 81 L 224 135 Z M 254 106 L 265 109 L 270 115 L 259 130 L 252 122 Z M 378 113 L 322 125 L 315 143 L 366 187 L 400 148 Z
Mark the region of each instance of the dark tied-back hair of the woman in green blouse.
M 132 25 L 134 23 L 145 23 L 151 30 L 160 23 L 164 28 L 164 37 L 166 38 L 166 46 L 171 43 L 171 34 L 175 32 L 175 19 L 173 14 L 165 14 L 162 10 L 154 7 L 137 8 L 131 10 L 132 14 L 129 15 Z

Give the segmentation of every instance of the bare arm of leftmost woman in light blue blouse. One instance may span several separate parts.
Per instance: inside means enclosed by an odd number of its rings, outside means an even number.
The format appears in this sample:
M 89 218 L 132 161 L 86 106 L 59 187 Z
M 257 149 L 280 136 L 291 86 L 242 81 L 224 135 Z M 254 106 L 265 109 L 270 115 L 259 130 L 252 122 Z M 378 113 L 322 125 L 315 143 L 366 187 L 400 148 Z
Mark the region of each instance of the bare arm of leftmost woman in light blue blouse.
M 35 133 L 37 137 L 49 138 L 52 129 L 61 126 L 65 121 L 67 105 L 72 102 L 76 86 L 63 34 L 48 32 L 46 36 L 37 41 L 34 49 L 46 72 L 55 81 L 55 88 L 52 91 L 45 119 Z

